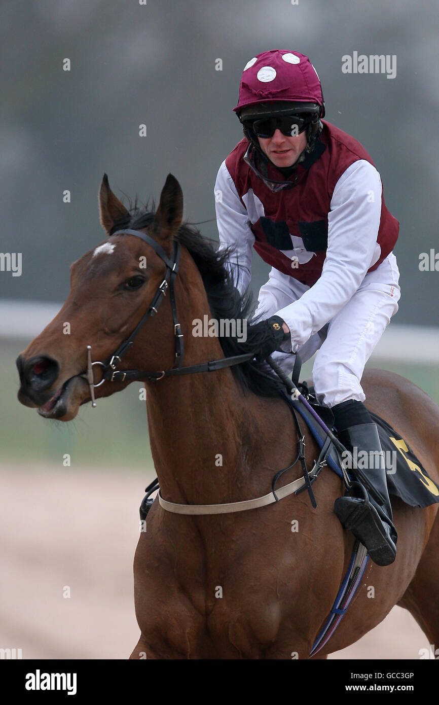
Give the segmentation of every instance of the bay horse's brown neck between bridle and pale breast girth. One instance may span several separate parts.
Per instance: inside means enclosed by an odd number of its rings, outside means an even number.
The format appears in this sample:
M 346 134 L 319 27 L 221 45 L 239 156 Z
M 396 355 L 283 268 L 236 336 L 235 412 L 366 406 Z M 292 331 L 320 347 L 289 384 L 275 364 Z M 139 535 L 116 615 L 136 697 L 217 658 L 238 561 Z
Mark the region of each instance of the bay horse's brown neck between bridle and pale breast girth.
M 193 286 L 185 292 L 189 299 L 181 288 L 177 297 L 185 331 L 183 364 L 224 357 L 217 338 L 191 335 L 194 318 L 211 317 L 204 287 L 201 297 L 199 289 L 194 295 Z M 256 465 L 259 446 L 268 441 L 270 424 L 259 422 L 267 418 L 264 402 L 273 400 L 242 391 L 230 368 L 148 384 L 149 441 L 163 497 L 194 504 L 247 498 L 254 475 L 248 480 L 246 471 Z

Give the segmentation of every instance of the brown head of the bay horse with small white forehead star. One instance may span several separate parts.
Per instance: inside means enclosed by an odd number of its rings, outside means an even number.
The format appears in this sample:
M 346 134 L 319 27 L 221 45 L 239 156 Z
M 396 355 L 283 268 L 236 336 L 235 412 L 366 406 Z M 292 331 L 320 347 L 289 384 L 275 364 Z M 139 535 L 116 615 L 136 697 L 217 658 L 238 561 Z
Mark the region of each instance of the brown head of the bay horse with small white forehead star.
M 111 359 L 148 310 L 166 273 L 166 263 L 156 250 L 172 257 L 173 238 L 183 218 L 183 192 L 169 174 L 159 208 L 142 228 L 151 244 L 135 235 L 118 233 L 126 228 L 132 214 L 111 191 L 106 174 L 99 190 L 99 212 L 107 239 L 72 264 L 70 293 L 61 311 L 16 361 L 18 400 L 37 408 L 45 418 L 70 421 L 80 405 L 91 399 L 92 388 L 99 398 L 132 381 L 97 387 L 105 366 L 94 363 L 95 384 L 90 385 L 86 379 L 87 345 L 92 345 L 94 360 Z M 171 332 L 173 324 L 169 297 L 167 300 L 160 317 L 149 319 L 139 333 L 138 344 L 128 351 L 124 362 L 131 367 L 140 364 L 140 353 L 142 364 L 147 360 L 152 369 L 162 369 L 173 360 L 173 337 L 163 334 Z

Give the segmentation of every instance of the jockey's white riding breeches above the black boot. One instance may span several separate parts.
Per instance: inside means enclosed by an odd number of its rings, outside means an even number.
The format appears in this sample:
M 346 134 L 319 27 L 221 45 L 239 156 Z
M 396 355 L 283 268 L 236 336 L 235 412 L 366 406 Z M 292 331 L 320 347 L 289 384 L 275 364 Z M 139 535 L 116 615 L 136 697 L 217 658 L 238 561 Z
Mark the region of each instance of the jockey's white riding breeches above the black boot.
M 333 407 L 348 399 L 365 400 L 361 376 L 373 348 L 397 312 L 401 295 L 399 278 L 396 257 L 391 252 L 378 269 L 366 274 L 338 314 L 297 351 L 305 362 L 319 350 L 312 371 L 319 403 Z M 273 267 L 268 282 L 259 291 L 255 317 L 273 316 L 308 289 L 309 286 Z M 292 372 L 295 355 L 273 353 L 273 358 L 284 372 Z

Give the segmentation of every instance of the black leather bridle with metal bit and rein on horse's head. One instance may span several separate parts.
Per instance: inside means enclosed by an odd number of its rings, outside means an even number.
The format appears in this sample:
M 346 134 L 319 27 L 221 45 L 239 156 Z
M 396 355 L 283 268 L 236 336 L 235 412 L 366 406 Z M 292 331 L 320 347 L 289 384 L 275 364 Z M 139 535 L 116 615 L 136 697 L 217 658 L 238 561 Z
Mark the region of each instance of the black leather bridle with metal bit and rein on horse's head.
M 147 309 L 147 312 L 140 319 L 135 329 L 132 331 L 125 341 L 120 343 L 119 347 L 113 355 L 106 360 L 106 362 L 101 362 L 96 360 L 92 362 L 92 346 L 87 345 L 87 372 L 82 374 L 89 385 L 90 396 L 92 398 L 92 407 L 96 407 L 96 400 L 94 398 L 94 389 L 100 387 L 104 382 L 125 382 L 133 381 L 135 379 L 145 379 L 146 381 L 157 381 L 163 379 L 166 376 L 175 376 L 180 374 L 194 374 L 197 372 L 214 372 L 216 369 L 223 369 L 224 367 L 232 367 L 235 364 L 241 364 L 242 362 L 249 362 L 254 357 L 254 353 L 245 353 L 245 355 L 234 355 L 233 357 L 223 357 L 221 360 L 211 360 L 210 362 L 203 362 L 202 364 L 192 364 L 187 367 L 183 367 L 183 355 L 184 355 L 184 345 L 183 345 L 183 333 L 181 332 L 181 326 L 178 322 L 177 314 L 177 303 L 175 301 L 175 278 L 178 274 L 178 266 L 180 263 L 180 243 L 178 240 L 173 241 L 173 258 L 169 259 L 163 247 L 159 245 L 153 238 L 139 230 L 117 230 L 112 235 L 135 235 L 136 238 L 140 238 L 150 245 L 156 255 L 159 255 L 163 262 L 166 264 L 166 274 L 165 278 L 159 284 L 156 290 L 154 298 Z M 117 369 L 120 362 L 122 362 L 123 357 L 128 353 L 128 350 L 132 347 L 135 337 L 142 330 L 144 324 L 147 322 L 150 316 L 155 316 L 159 310 L 159 306 L 166 295 L 169 288 L 170 299 L 171 299 L 171 312 L 173 317 L 173 329 L 174 329 L 174 341 L 175 341 L 175 355 L 173 367 L 171 369 L 162 369 L 159 372 L 144 372 L 140 369 Z M 102 368 L 102 379 L 97 384 L 94 384 L 94 365 L 100 365 Z

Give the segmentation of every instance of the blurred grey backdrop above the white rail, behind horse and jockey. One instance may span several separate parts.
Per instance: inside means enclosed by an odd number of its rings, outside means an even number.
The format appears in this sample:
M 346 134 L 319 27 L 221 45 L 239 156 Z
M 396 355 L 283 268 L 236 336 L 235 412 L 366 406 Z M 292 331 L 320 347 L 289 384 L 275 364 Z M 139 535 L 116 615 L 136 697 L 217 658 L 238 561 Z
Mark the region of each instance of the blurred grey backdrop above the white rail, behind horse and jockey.
M 437 325 L 439 273 L 419 271 L 419 254 L 439 250 L 437 6 L 297 3 L 4 3 L 0 249 L 23 253 L 23 274 L 0 273 L 0 298 L 66 298 L 70 262 L 104 239 L 97 210 L 104 171 L 118 196 L 138 194 L 143 202 L 158 199 L 171 171 L 183 186 L 185 217 L 214 219 L 218 167 L 242 137 L 232 111 L 242 68 L 278 48 L 311 58 L 326 118 L 356 137 L 381 173 L 386 204 L 400 221 L 402 298 L 394 320 Z M 396 78 L 342 73 L 342 56 L 353 51 L 395 54 Z M 147 137 L 139 136 L 140 123 Z M 202 232 L 217 238 L 215 221 Z M 267 271 L 255 256 L 255 290 Z

